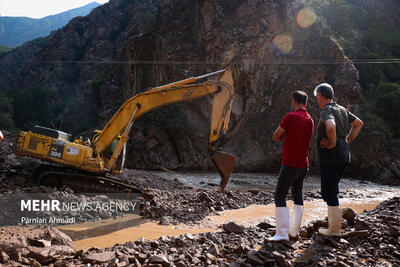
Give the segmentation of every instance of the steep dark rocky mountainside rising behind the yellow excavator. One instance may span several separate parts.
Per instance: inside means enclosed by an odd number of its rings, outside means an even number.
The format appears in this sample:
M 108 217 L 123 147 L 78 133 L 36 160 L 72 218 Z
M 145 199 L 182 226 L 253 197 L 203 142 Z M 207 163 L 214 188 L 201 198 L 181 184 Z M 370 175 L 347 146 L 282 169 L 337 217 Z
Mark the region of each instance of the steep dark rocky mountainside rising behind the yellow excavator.
M 236 171 L 277 171 L 281 147 L 271 135 L 290 111 L 293 91 L 309 94 L 315 121 L 319 108 L 311 96 L 321 82 L 332 83 L 337 101 L 356 114 L 360 101 L 354 65 L 323 24 L 299 26 L 302 8 L 299 1 L 278 0 L 111 0 L 6 54 L 0 90 L 45 87 L 51 105 L 65 105 L 56 125 L 91 136 L 124 101 L 149 87 L 230 68 L 235 98 L 222 145 L 237 156 Z M 342 63 L 321 64 L 332 61 Z M 212 169 L 210 99 L 169 105 L 138 119 L 128 166 Z M 365 142 L 356 145 L 368 147 Z M 315 142 L 312 164 L 314 151 Z M 369 157 L 355 151 L 356 167 L 368 169 Z

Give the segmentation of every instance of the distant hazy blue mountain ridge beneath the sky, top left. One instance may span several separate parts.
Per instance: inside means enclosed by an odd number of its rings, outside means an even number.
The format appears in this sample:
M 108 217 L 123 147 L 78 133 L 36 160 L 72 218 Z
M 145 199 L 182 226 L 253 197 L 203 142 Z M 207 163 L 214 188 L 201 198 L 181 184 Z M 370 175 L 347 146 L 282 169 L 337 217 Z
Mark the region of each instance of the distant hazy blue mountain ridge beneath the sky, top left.
M 99 3 L 93 2 L 80 8 L 41 19 L 0 16 L 0 44 L 16 47 L 26 41 L 49 35 L 51 31 L 61 28 L 72 18 L 86 16 L 93 8 L 98 6 L 100 6 Z

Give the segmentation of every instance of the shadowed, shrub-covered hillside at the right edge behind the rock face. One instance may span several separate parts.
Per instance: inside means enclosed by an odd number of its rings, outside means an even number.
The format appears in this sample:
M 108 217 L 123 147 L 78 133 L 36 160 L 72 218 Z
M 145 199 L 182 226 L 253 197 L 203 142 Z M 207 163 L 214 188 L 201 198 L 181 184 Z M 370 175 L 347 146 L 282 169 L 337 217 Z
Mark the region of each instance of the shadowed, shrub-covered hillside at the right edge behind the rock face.
M 372 136 L 381 136 L 373 146 L 354 148 L 365 159 L 370 158 L 370 164 L 375 166 L 374 172 L 365 172 L 365 175 L 376 177 L 381 173 L 381 178 L 386 181 L 400 177 L 394 163 L 400 163 L 400 115 L 397 112 L 400 107 L 400 2 L 305 2 L 324 18 L 345 54 L 358 62 L 355 66 L 359 71 L 363 99 L 360 116 L 367 130 L 367 134 L 364 130 L 360 136 L 360 141 L 366 143 Z M 361 164 L 361 169 L 365 170 L 364 166 Z

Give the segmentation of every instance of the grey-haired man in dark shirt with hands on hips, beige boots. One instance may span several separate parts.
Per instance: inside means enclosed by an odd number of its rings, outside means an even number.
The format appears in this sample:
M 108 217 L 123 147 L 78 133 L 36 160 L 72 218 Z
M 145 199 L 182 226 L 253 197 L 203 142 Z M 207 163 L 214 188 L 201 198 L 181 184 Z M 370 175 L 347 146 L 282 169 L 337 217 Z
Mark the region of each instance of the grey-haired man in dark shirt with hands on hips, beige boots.
M 318 158 L 321 169 L 321 194 L 328 204 L 328 229 L 319 233 L 340 236 L 342 212 L 339 207 L 339 180 L 350 163 L 349 144 L 359 134 L 363 122 L 344 107 L 333 102 L 330 84 L 322 83 L 314 90 L 320 119 L 317 128 Z

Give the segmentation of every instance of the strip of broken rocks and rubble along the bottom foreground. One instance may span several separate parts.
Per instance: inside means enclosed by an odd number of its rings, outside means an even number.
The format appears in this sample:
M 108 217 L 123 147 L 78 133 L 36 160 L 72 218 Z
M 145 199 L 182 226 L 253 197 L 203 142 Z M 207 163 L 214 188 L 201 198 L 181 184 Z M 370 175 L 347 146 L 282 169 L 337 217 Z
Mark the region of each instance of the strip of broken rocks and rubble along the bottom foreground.
M 54 231 L 49 228 L 24 228 L 31 232 L 28 236 L 19 232 L 24 229 L 3 227 L 1 235 L 21 241 L 13 246 L 2 241 L 0 261 L 5 266 L 398 266 L 399 211 L 399 197 L 361 215 L 346 210 L 342 237 L 319 235 L 318 227 L 326 222 L 315 221 L 301 228 L 297 241 L 271 243 L 265 241 L 274 234 L 268 225 L 229 223 L 216 233 L 141 238 L 86 252 L 74 250 L 65 236 L 51 238 L 58 233 L 49 234 Z

